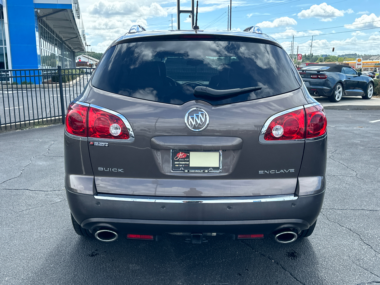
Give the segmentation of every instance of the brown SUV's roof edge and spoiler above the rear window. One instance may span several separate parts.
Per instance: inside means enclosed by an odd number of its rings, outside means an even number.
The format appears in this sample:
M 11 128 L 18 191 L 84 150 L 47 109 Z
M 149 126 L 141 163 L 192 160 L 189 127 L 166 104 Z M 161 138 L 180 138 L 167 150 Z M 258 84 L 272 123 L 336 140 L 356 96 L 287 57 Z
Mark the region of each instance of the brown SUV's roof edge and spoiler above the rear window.
M 276 46 L 282 47 L 277 40 L 268 36 L 266 34 L 254 33 L 254 32 L 241 32 L 241 31 L 223 31 L 223 30 L 157 30 L 157 31 L 141 31 L 135 33 L 126 33 L 123 36 L 117 38 L 111 46 L 120 43 L 127 43 L 133 41 L 141 41 L 142 38 L 166 38 L 179 35 L 214 35 L 215 39 L 218 38 L 230 38 L 230 37 L 240 37 L 240 38 L 251 38 L 258 41 L 268 42 L 275 44 Z M 201 37 L 199 38 L 202 39 Z M 206 40 L 206 39 L 205 39 Z

